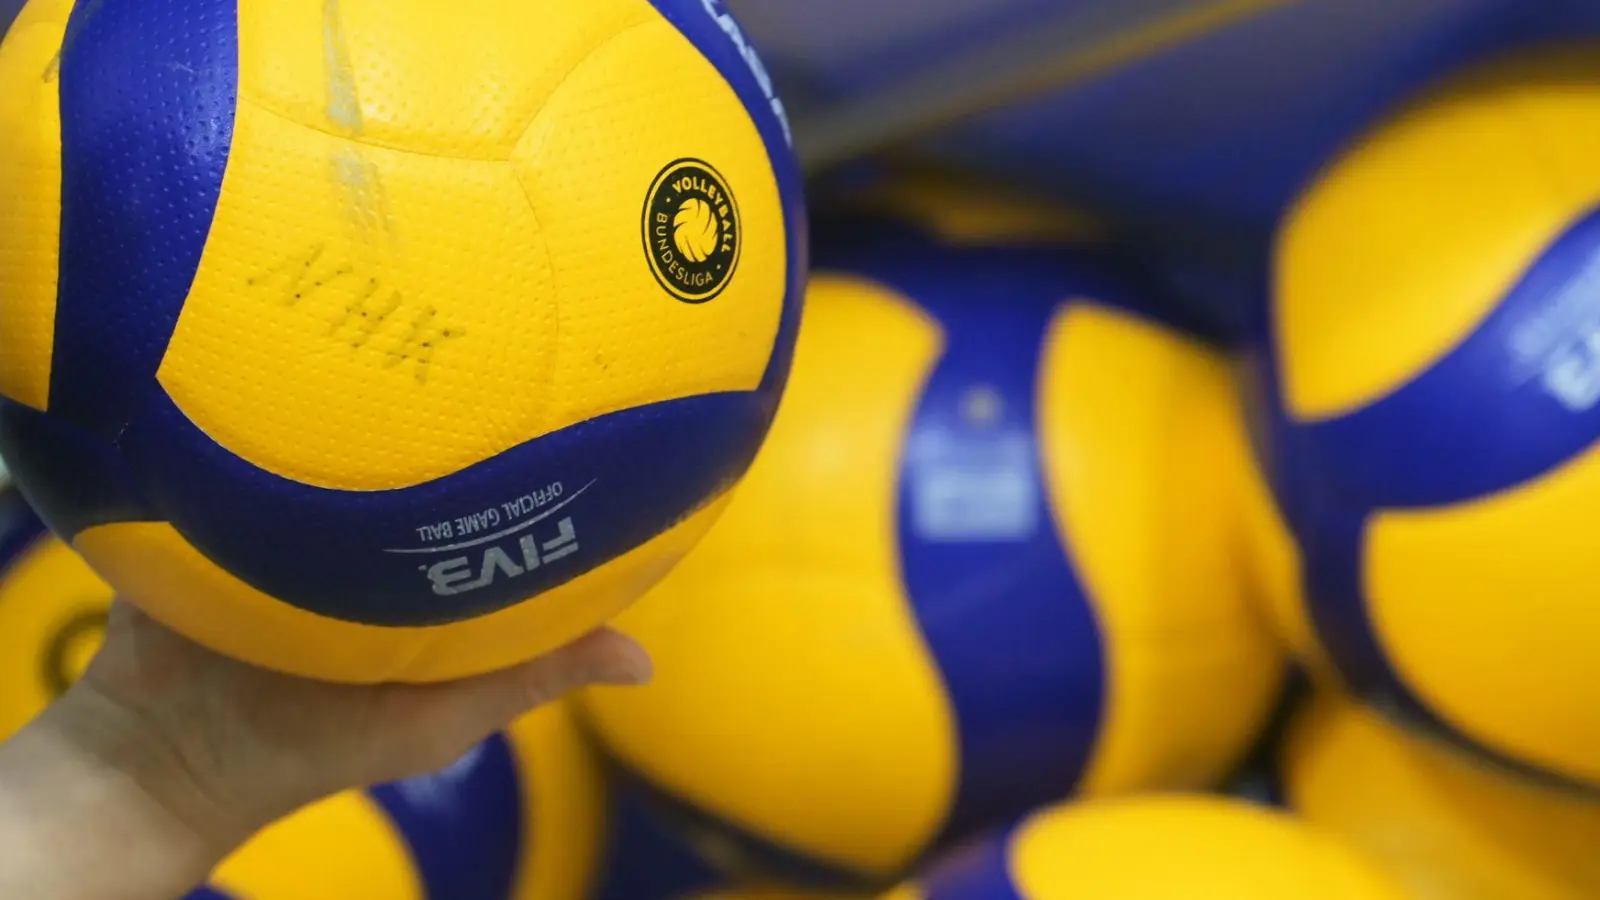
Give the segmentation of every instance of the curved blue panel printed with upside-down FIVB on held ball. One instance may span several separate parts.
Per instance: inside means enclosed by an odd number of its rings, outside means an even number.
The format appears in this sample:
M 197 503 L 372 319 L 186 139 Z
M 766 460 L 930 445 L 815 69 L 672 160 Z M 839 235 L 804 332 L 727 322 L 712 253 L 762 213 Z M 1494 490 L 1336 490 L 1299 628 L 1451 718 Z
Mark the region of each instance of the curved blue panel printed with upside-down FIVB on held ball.
M 635 407 L 378 492 L 264 472 L 165 391 L 120 442 L 154 508 L 227 572 L 330 618 L 426 626 L 514 605 L 680 522 L 744 472 L 773 405 L 728 392 Z

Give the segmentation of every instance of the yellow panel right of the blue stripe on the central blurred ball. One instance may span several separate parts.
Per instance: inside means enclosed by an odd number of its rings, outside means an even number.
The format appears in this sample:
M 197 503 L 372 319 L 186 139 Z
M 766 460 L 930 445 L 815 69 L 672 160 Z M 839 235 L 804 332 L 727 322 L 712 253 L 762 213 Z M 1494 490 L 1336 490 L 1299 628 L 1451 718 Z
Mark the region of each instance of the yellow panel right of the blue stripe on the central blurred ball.
M 1250 471 L 1232 378 L 1198 343 L 1093 303 L 1058 314 L 1046 346 L 1051 509 L 1078 578 L 1107 599 L 1110 703 L 1083 790 L 1206 785 L 1259 727 L 1283 666 L 1254 623 L 1245 532 L 1190 520 L 1237 509 Z

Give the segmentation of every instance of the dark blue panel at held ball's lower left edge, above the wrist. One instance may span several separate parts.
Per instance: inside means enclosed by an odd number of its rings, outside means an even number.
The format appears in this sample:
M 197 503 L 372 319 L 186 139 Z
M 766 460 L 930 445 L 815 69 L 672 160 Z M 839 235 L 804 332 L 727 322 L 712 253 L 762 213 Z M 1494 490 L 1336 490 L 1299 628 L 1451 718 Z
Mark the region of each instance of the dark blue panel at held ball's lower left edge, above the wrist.
M 0 399 L 0 455 L 69 541 L 94 525 L 155 519 L 117 447 L 69 421 Z

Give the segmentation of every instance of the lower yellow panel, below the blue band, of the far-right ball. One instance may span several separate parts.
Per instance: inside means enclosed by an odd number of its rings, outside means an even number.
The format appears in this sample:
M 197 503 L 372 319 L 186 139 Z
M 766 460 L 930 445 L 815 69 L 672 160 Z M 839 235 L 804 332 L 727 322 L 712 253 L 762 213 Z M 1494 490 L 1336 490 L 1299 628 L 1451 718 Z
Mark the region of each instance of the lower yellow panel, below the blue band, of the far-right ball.
M 1600 684 L 1597 498 L 1590 448 L 1515 492 L 1384 511 L 1366 585 L 1379 601 L 1373 625 L 1422 701 L 1518 759 L 1600 781 L 1600 714 L 1589 714 Z M 1413 597 L 1450 597 L 1450 612 Z

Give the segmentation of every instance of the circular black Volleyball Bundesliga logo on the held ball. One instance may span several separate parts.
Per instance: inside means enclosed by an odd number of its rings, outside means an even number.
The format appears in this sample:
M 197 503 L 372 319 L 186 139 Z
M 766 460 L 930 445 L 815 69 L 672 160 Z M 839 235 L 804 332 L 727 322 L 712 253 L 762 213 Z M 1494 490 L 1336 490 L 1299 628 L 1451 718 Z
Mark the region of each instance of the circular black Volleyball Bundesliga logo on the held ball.
M 710 163 L 682 159 L 645 195 L 645 256 L 661 287 L 683 303 L 722 293 L 739 267 L 739 203 Z

